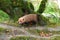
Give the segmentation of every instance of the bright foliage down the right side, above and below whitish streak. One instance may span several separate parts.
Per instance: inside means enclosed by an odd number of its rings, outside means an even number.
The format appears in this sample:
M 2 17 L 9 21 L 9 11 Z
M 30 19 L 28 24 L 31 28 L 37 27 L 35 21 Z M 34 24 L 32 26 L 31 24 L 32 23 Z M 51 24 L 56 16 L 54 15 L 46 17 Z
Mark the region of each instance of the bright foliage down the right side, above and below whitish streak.
M 60 19 L 59 19 L 59 9 L 56 3 L 52 2 L 47 2 L 46 9 L 44 13 L 50 14 L 51 17 L 48 17 L 49 21 L 51 24 L 59 24 Z

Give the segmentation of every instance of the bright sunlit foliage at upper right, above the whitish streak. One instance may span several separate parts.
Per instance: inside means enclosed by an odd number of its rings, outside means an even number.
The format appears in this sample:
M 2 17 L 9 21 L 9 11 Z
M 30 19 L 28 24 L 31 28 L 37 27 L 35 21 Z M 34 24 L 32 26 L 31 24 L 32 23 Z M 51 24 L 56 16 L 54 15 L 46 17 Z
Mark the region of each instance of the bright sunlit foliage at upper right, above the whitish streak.
M 56 3 L 52 2 L 47 2 L 46 4 L 46 9 L 45 9 L 45 13 L 52 13 L 52 12 L 58 12 L 58 6 Z

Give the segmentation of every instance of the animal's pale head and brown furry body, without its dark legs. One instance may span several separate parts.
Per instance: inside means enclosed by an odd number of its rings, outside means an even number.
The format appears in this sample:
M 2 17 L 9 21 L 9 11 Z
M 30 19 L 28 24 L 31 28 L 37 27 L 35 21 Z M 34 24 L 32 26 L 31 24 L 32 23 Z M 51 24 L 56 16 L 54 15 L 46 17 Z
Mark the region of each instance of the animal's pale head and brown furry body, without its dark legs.
M 29 23 L 29 22 L 37 22 L 38 21 L 37 16 L 38 16 L 37 14 L 27 14 L 27 15 L 24 15 L 23 17 L 20 17 L 18 22 L 20 24 Z M 20 22 L 21 20 L 22 22 Z

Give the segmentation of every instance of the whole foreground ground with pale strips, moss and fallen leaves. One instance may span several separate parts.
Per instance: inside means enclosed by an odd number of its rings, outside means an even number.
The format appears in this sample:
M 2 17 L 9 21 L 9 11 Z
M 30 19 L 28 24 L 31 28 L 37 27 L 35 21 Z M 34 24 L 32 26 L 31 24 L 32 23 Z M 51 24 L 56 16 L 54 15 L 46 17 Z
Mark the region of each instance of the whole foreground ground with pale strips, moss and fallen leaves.
M 29 37 L 31 37 L 32 39 L 46 39 L 46 40 L 59 40 L 60 39 L 60 27 L 14 27 L 14 26 L 9 26 L 6 24 L 0 24 L 0 27 L 7 29 L 6 31 L 3 31 L 3 33 L 0 35 L 0 40 L 17 40 L 16 37 L 18 37 L 21 40 L 25 40 L 25 39 L 30 39 Z M 42 33 L 44 35 L 47 35 L 48 33 L 52 33 L 51 36 L 41 36 Z M 25 36 L 25 38 L 24 38 Z M 56 37 L 58 36 L 58 38 Z

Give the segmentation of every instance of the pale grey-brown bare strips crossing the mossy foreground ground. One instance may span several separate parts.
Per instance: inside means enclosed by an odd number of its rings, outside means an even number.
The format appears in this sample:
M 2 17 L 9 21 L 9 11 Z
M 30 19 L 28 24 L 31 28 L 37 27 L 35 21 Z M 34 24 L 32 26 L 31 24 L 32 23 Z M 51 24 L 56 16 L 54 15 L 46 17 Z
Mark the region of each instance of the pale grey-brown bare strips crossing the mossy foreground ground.
M 40 36 L 36 36 L 36 35 L 32 35 L 31 33 L 27 32 L 25 30 L 25 28 L 19 28 L 19 27 L 14 27 L 14 26 L 10 26 L 10 25 L 6 25 L 6 24 L 0 24 L 0 27 L 3 27 L 3 28 L 7 28 L 7 29 L 12 29 L 12 30 L 15 30 L 17 29 L 18 31 L 22 31 L 24 34 L 17 34 L 15 36 L 31 36 L 31 37 L 34 37 L 34 38 L 50 38 L 50 37 L 40 37 Z M 60 27 L 55 27 L 55 28 L 47 28 L 47 27 L 30 27 L 29 29 L 39 29 L 39 30 L 43 30 L 43 29 L 48 29 L 50 31 L 60 31 Z M 3 35 L 0 35 L 0 40 L 9 40 L 11 37 L 13 37 L 12 35 L 6 35 L 6 34 L 3 34 Z M 51 37 L 54 37 L 54 36 L 59 36 L 59 35 L 53 35 Z

